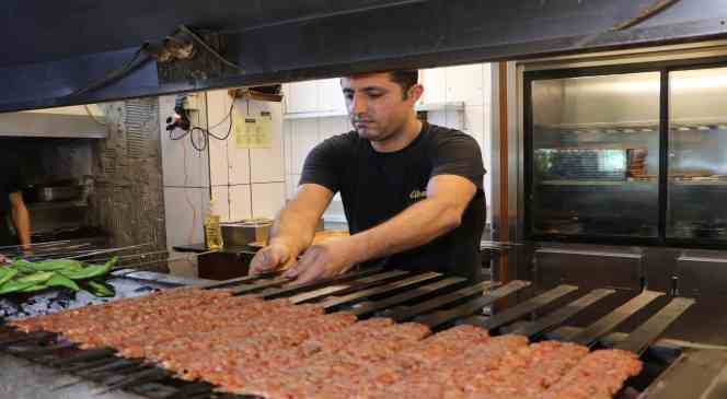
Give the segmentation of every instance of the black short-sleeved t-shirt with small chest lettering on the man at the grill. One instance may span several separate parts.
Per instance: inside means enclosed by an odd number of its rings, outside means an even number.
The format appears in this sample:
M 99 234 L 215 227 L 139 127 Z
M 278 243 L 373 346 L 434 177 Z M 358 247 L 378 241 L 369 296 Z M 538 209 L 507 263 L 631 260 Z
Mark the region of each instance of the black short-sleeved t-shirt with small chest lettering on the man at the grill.
M 429 179 L 437 175 L 468 178 L 477 192 L 462 224 L 422 247 L 362 266 L 384 266 L 417 271 L 441 271 L 480 279 L 480 240 L 485 222 L 483 176 L 477 142 L 453 129 L 423 124 L 422 132 L 403 150 L 381 153 L 356 131 L 335 136 L 315 146 L 303 165 L 300 184 L 314 183 L 341 197 L 350 234 L 397 215 L 426 197 Z

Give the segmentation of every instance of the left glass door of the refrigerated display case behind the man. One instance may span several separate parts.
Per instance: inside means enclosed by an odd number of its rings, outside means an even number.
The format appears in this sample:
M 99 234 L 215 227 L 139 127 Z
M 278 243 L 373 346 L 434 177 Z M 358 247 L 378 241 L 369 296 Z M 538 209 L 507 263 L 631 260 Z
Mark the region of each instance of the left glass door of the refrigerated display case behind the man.
M 539 79 L 528 91 L 531 234 L 657 237 L 660 73 Z

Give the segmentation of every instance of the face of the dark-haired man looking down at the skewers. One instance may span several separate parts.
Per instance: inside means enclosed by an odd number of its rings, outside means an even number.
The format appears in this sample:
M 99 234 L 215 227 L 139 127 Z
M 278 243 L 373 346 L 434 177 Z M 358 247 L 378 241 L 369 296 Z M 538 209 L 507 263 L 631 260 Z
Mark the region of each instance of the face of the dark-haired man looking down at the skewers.
M 404 98 L 402 87 L 389 73 L 341 79 L 346 108 L 359 137 L 371 141 L 391 138 L 405 126 L 419 97 L 418 85 Z

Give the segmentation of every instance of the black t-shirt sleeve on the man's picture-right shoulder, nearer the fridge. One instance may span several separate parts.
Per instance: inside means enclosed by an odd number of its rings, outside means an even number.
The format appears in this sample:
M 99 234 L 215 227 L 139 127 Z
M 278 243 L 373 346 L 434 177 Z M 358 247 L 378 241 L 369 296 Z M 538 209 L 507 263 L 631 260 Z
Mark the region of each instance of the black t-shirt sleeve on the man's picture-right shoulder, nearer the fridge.
M 457 130 L 442 132 L 439 139 L 435 140 L 432 151 L 431 177 L 462 176 L 478 189 L 483 189 L 485 168 L 482 163 L 482 152 L 480 144 L 472 137 Z

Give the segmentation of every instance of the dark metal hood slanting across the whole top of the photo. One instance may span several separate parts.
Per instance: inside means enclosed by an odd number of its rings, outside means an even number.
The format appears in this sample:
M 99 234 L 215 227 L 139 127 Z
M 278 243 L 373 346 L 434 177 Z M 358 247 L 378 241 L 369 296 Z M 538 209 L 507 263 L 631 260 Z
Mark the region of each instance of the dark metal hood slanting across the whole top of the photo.
M 724 0 L 3 0 L 0 112 L 724 38 L 726 21 Z M 69 97 L 180 24 L 219 33 L 245 73 L 170 83 L 151 62 Z

